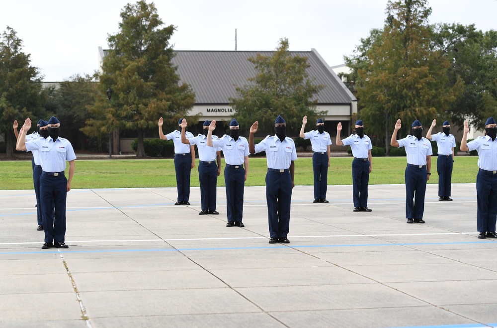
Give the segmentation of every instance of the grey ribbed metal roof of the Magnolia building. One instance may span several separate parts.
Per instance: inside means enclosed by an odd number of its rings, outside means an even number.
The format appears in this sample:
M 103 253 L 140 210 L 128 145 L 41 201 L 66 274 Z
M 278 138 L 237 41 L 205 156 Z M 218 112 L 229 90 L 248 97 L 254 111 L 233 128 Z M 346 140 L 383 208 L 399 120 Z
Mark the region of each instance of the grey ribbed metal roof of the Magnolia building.
M 195 91 L 195 103 L 228 104 L 230 98 L 237 97 L 235 85 L 247 85 L 248 78 L 256 74 L 248 58 L 258 53 L 270 56 L 274 51 L 176 50 L 174 53 L 172 63 L 177 66 L 181 81 Z M 315 49 L 290 53 L 307 57 L 309 77 L 315 78 L 316 84 L 326 86 L 316 96 L 319 104 L 350 104 L 356 101 Z

